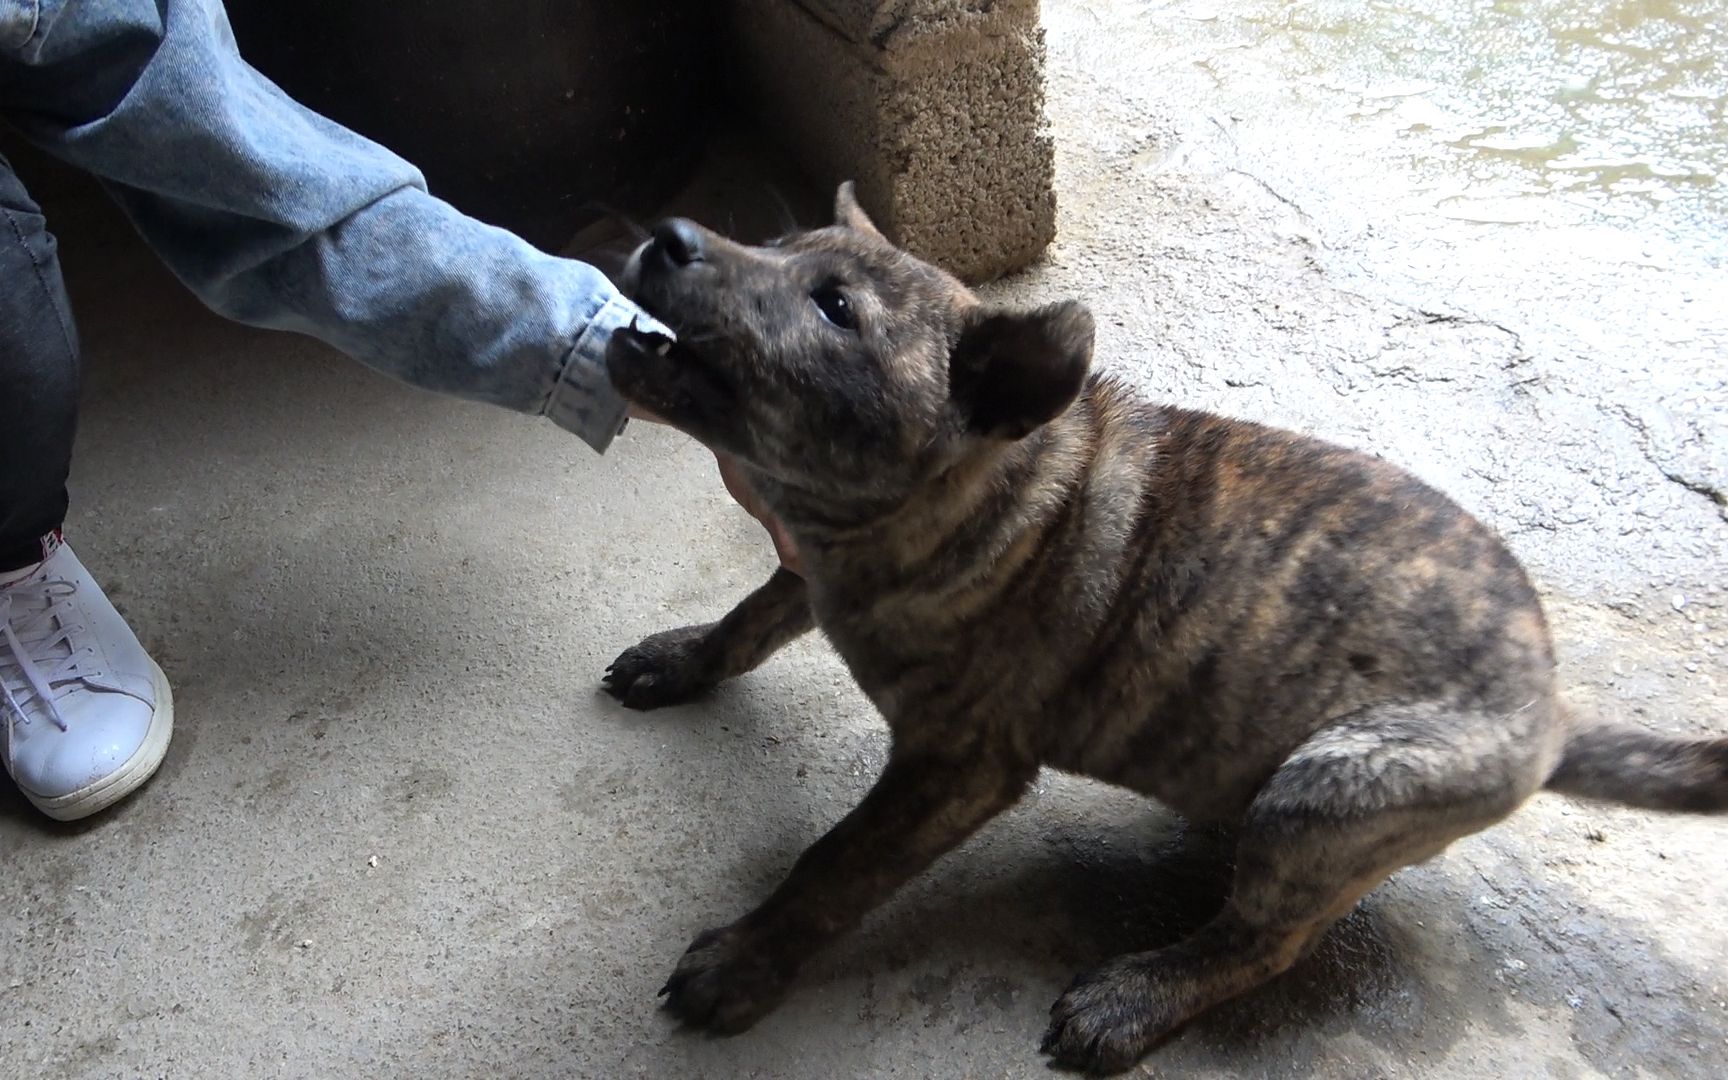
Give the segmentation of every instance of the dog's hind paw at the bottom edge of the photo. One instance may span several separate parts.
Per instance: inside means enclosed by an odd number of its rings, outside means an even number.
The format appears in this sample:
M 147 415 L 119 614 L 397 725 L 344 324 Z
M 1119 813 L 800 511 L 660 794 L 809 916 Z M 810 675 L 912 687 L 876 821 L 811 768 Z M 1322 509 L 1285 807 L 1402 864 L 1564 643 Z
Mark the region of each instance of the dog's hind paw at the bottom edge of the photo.
M 1078 976 L 1051 1006 L 1039 1047 L 1052 1064 L 1094 1075 L 1121 1073 L 1180 1026 L 1175 999 L 1140 957 Z

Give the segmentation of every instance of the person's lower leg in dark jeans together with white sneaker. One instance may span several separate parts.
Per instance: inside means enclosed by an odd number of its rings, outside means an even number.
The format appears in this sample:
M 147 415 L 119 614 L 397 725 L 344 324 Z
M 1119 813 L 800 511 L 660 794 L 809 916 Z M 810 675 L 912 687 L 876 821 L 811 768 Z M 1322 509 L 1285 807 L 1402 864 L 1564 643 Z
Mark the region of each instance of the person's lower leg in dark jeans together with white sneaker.
M 156 772 L 168 679 L 60 541 L 78 335 L 41 211 L 0 157 L 0 762 L 43 814 L 88 817 Z

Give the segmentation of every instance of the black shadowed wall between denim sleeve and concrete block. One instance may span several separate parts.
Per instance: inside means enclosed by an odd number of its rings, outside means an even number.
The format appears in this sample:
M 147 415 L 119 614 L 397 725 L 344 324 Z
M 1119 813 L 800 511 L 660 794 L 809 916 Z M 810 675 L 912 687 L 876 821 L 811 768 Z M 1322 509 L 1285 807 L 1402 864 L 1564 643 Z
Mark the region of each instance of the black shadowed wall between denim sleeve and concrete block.
M 240 52 L 460 209 L 553 251 L 646 214 L 721 109 L 705 0 L 228 0 Z

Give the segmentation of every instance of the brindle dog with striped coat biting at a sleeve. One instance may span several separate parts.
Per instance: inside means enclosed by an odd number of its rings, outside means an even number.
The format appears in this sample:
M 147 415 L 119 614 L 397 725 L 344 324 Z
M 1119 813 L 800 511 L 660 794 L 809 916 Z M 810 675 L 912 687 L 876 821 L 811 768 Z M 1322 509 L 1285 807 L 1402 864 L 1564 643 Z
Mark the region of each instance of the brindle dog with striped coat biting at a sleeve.
M 662 223 L 624 282 L 679 339 L 620 334 L 619 391 L 736 454 L 805 577 L 627 650 L 610 691 L 684 702 L 819 626 L 893 733 L 864 802 L 689 945 L 664 994 L 691 1025 L 748 1028 L 1040 766 L 1236 826 L 1211 923 L 1052 1007 L 1044 1051 L 1096 1071 L 1541 788 L 1728 810 L 1728 738 L 1574 724 L 1529 581 L 1445 496 L 1090 372 L 1085 308 L 982 304 L 850 187 L 767 247 Z

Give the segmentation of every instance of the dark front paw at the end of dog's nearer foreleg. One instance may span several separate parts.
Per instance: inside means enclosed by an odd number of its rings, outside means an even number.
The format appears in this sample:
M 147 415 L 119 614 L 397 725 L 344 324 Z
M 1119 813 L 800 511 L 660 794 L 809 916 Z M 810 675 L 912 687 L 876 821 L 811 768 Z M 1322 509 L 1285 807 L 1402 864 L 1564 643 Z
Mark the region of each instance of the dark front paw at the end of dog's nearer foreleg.
M 660 997 L 689 1026 L 734 1035 L 779 1004 L 786 982 L 767 950 L 743 930 L 726 926 L 696 935 Z

